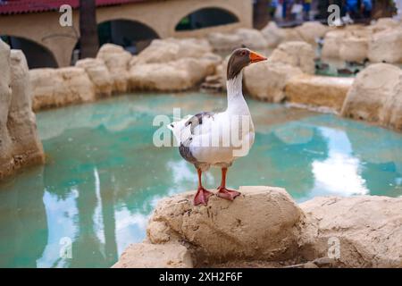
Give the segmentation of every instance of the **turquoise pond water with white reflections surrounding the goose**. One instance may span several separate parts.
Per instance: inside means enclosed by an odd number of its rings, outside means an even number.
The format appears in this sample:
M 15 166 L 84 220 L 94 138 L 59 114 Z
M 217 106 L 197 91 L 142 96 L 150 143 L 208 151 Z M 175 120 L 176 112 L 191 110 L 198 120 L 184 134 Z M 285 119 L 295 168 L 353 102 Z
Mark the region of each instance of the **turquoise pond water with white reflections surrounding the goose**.
M 402 195 L 402 135 L 332 114 L 248 100 L 256 139 L 229 185 L 314 196 Z M 37 114 L 46 165 L 0 184 L 0 267 L 107 267 L 145 238 L 159 199 L 194 189 L 197 175 L 175 147 L 155 147 L 157 114 L 219 110 L 201 93 L 130 95 Z M 220 171 L 207 172 L 216 188 Z M 71 242 L 71 253 L 64 251 Z M 61 255 L 62 254 L 62 255 Z

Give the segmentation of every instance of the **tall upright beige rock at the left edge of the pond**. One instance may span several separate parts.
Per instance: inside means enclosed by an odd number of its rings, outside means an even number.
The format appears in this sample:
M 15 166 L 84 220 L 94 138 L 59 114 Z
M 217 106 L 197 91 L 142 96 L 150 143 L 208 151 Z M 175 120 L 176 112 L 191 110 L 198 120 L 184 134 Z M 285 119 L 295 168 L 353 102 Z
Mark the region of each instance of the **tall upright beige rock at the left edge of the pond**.
M 21 167 L 43 164 L 35 114 L 31 109 L 28 64 L 20 50 L 0 39 L 0 180 Z

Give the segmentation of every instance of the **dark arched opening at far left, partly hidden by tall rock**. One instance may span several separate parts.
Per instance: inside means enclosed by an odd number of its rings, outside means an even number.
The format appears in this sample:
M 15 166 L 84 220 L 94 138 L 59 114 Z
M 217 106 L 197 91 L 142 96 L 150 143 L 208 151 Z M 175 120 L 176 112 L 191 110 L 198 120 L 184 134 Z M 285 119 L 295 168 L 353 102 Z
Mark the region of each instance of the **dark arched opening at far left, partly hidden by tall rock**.
M 19 49 L 24 53 L 29 69 L 58 67 L 54 53 L 47 46 L 31 38 L 14 35 L 1 36 L 11 48 Z

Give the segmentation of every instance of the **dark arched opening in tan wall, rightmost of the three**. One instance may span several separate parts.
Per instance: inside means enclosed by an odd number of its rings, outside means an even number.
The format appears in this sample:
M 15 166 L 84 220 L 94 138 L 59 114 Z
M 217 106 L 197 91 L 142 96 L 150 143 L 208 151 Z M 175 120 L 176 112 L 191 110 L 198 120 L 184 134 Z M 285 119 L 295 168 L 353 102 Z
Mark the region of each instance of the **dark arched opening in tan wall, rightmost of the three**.
M 239 22 L 239 17 L 227 9 L 205 7 L 184 16 L 175 26 L 175 30 L 205 29 Z

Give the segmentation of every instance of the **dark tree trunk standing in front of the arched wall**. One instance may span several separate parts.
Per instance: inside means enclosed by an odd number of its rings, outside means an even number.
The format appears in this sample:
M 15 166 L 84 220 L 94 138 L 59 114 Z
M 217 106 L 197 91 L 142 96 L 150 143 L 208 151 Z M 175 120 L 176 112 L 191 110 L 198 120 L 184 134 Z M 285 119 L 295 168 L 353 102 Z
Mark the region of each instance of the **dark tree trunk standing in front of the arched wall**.
M 96 57 L 98 47 L 96 0 L 80 0 L 80 58 Z

